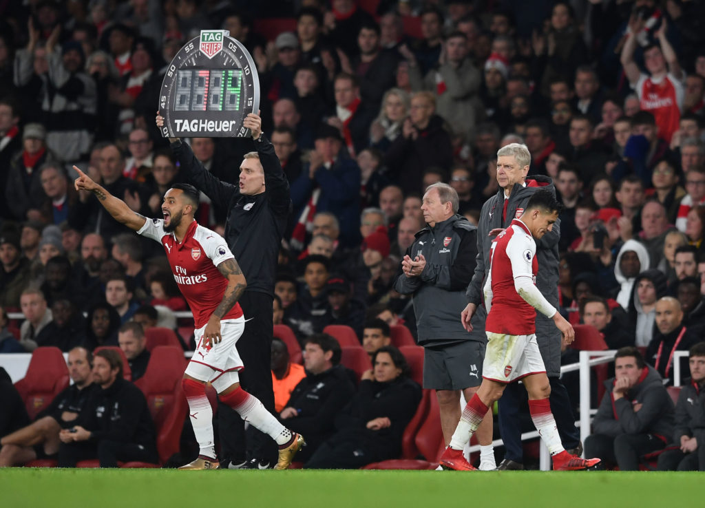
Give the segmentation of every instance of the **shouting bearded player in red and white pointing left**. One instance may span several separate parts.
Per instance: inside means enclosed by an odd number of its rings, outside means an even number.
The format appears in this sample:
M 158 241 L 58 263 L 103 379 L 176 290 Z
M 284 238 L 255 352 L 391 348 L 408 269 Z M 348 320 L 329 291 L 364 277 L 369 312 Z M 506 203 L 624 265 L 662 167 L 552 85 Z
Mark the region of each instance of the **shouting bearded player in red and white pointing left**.
M 214 447 L 213 414 L 204 387 L 207 382 L 212 383 L 221 402 L 277 442 L 279 459 L 274 469 L 287 469 L 304 439 L 240 388 L 238 371 L 243 362 L 235 343 L 243 333 L 245 318 L 238 297 L 247 283 L 223 237 L 196 223 L 198 191 L 188 184 L 173 185 L 161 204 L 164 218 L 147 219 L 73 167 L 79 175 L 75 180 L 77 190 L 92 192 L 116 221 L 164 245 L 174 279 L 192 309 L 197 347 L 181 385 L 200 453 L 181 469 L 220 467 Z

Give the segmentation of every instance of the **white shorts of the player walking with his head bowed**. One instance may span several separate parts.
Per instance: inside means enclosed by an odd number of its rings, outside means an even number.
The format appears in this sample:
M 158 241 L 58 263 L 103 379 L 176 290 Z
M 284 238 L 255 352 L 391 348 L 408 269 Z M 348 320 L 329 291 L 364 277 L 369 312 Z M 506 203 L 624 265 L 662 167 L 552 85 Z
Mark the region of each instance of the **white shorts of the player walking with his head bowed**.
M 546 372 L 536 334 L 485 333 L 487 349 L 482 364 L 483 378 L 498 383 L 511 383 L 529 374 Z

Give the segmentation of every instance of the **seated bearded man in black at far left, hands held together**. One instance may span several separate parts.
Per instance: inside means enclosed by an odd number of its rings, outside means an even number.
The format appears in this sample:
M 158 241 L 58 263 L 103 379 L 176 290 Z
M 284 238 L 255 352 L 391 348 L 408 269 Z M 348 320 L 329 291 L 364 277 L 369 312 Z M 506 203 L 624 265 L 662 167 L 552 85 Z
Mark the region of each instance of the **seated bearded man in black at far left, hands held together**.
M 109 349 L 97 352 L 93 376 L 101 390 L 76 424 L 59 433 L 59 467 L 95 457 L 101 467 L 117 467 L 118 460 L 157 464 L 157 431 L 147 399 L 123 379 L 120 354 Z

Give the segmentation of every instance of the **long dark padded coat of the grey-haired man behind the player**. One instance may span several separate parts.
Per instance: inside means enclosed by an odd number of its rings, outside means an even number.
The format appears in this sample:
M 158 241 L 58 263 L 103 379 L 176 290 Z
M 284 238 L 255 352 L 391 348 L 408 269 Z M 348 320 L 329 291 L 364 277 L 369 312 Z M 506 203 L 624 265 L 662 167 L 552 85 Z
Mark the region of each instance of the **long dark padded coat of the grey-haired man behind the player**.
M 489 198 L 482 206 L 480 219 L 477 224 L 477 264 L 472 275 L 470 284 L 467 285 L 465 296 L 467 302 L 477 305 L 475 316 L 479 317 L 479 331 L 484 333 L 484 322 L 487 312 L 482 303 L 482 287 L 489 270 L 489 256 L 491 253 L 492 240 L 489 232 L 495 228 L 507 228 L 512 219 L 520 216 L 524 208 L 537 190 L 548 190 L 554 195 L 556 187 L 553 180 L 547 176 L 531 175 L 526 179 L 526 187 L 515 184 L 507 203 L 507 213 L 502 220 L 502 209 L 504 206 L 504 190 L 498 190 L 497 194 Z M 541 294 L 546 297 L 548 303 L 558 308 L 558 240 L 560 240 L 560 220 L 553 224 L 551 231 L 548 231 L 541 240 L 537 240 L 537 260 L 539 262 L 539 273 L 536 278 L 536 285 Z M 478 330 L 473 319 L 472 326 Z M 544 359 L 546 374 L 549 377 L 560 375 L 560 332 L 553 319 L 546 318 L 537 312 L 536 336 L 541 349 L 541 357 Z

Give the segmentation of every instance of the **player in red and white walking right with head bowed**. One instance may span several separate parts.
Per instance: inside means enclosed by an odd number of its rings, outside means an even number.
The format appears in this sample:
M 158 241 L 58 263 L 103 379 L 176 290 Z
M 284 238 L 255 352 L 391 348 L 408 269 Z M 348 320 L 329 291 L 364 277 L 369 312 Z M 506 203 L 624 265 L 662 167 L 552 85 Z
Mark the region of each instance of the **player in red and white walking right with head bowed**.
M 484 285 L 488 342 L 482 364 L 482 384 L 467 402 L 450 446 L 441 455 L 441 466 L 446 469 L 475 469 L 463 457 L 462 450 L 489 408 L 502 396 L 506 385 L 519 379 L 529 392 L 529 411 L 534 426 L 551 452 L 553 469 L 587 469 L 600 461 L 581 459 L 563 449 L 548 404 L 551 385 L 536 340 L 534 322 L 537 310 L 553 318 L 567 344 L 575 338 L 570 323 L 558 314 L 534 284 L 539 268 L 535 240 L 551 231 L 560 208 L 550 192 L 536 192 L 522 216 L 515 218 L 492 244 L 489 274 Z M 463 321 L 468 331 L 472 330 L 471 317 L 467 316 Z

